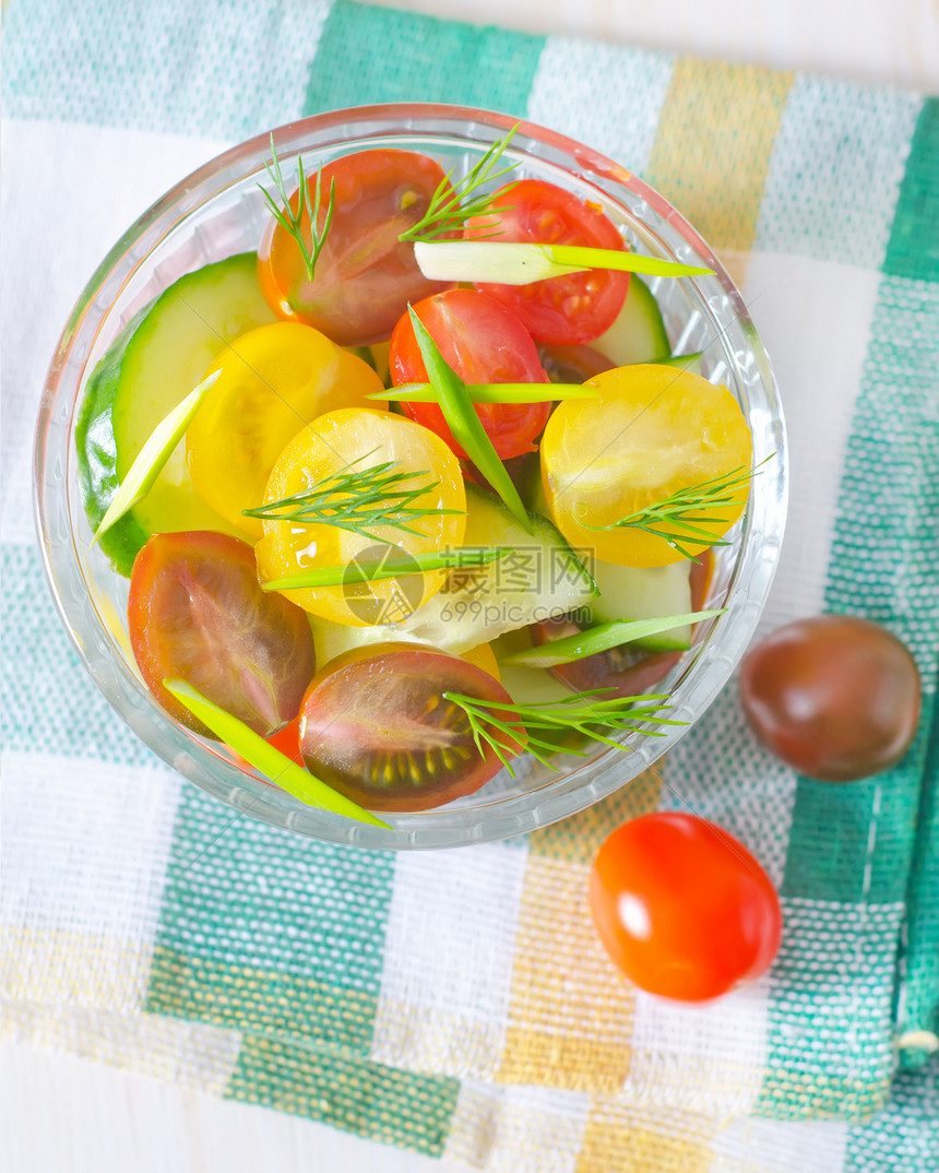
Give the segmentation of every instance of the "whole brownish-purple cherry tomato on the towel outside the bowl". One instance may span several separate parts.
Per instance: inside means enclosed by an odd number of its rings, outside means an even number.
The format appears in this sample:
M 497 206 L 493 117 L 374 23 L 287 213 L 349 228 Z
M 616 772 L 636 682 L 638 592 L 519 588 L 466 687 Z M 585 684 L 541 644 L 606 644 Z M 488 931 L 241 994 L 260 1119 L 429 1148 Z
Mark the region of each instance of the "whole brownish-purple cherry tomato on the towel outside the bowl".
M 774 631 L 744 656 L 740 696 L 760 740 L 823 782 L 887 769 L 910 748 L 919 720 L 913 657 L 886 629 L 851 615 Z

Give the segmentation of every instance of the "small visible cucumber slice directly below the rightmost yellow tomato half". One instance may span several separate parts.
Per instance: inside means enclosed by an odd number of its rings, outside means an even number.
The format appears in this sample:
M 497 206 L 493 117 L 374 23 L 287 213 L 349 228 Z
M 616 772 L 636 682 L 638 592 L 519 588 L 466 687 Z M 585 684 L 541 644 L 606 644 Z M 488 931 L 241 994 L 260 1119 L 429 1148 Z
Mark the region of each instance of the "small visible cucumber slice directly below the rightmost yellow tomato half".
M 600 594 L 590 604 L 591 623 L 688 615 L 693 610 L 690 565 L 673 562 L 668 567 L 640 568 L 594 562 L 591 569 Z M 686 651 L 692 646 L 692 629 L 673 628 L 637 639 L 635 646 L 651 652 Z

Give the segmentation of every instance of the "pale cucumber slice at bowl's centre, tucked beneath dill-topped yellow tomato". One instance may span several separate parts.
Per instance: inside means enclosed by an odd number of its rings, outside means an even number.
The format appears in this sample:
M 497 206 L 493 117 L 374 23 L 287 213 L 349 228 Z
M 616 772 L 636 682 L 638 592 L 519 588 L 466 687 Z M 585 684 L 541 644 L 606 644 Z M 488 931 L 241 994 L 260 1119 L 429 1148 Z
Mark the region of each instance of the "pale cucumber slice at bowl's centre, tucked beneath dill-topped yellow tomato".
M 403 639 L 461 652 L 504 631 L 585 606 L 597 586 L 550 521 L 531 514 L 526 534 L 488 489 L 467 484 L 467 545 L 511 550 L 486 567 L 461 569 L 403 623 L 347 628 L 311 618 L 317 663 L 363 644 Z

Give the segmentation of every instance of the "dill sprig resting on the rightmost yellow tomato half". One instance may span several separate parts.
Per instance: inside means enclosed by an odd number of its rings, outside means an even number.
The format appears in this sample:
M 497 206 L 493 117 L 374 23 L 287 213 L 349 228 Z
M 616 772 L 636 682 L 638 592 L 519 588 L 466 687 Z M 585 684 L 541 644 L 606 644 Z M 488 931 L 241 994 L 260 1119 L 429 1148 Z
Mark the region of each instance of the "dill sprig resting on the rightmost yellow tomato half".
M 767 460 L 771 460 L 767 456 Z M 652 537 L 661 537 L 673 550 L 685 557 L 695 560 L 695 551 L 690 547 L 701 550 L 713 545 L 729 545 L 722 537 L 727 529 L 727 518 L 713 516 L 700 510 L 726 509 L 737 503 L 736 490 L 749 482 L 766 465 L 766 460 L 756 468 L 747 468 L 743 465 L 732 468 L 722 476 L 715 476 L 709 481 L 700 481 L 698 484 L 689 484 L 683 489 L 676 489 L 655 504 L 645 506 L 635 513 L 620 517 L 608 526 L 591 526 L 583 517 L 578 517 L 578 523 L 585 529 L 594 533 L 603 533 L 611 529 L 641 529 Z M 720 527 L 720 533 L 707 529 L 707 526 Z

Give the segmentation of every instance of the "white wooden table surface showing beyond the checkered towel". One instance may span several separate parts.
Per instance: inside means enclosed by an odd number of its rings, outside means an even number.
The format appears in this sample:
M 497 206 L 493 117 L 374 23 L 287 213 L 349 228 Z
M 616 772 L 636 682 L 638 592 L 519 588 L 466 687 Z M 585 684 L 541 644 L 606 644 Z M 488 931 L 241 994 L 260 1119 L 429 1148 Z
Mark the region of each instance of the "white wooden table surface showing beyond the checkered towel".
M 385 0 L 379 0 L 385 2 Z M 939 0 L 396 0 L 389 7 L 939 91 Z M 324 1125 L 0 1049 L 6 1173 L 464 1173 Z

